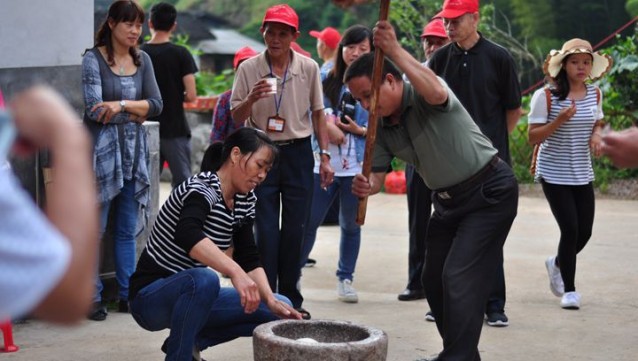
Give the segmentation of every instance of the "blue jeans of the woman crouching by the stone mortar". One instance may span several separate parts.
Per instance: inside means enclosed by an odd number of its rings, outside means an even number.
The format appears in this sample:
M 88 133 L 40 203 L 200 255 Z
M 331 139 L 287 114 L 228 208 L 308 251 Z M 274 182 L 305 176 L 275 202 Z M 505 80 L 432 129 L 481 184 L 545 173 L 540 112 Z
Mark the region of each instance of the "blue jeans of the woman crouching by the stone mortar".
M 279 300 L 290 304 L 280 295 Z M 159 279 L 139 291 L 131 301 L 131 314 L 148 331 L 169 328 L 166 360 L 192 361 L 198 350 L 251 336 L 255 327 L 277 320 L 265 303 L 247 314 L 239 293 L 220 287 L 219 277 L 209 268 L 191 268 Z

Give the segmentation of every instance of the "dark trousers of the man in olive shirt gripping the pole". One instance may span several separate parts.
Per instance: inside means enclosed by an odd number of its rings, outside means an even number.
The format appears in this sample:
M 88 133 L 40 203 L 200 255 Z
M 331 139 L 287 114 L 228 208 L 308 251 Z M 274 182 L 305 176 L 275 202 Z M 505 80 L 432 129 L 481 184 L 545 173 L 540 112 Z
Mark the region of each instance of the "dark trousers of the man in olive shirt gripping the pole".
M 518 184 L 506 163 L 499 160 L 476 183 L 432 196 L 423 276 L 443 338 L 439 361 L 480 360 L 485 304 L 516 217 Z

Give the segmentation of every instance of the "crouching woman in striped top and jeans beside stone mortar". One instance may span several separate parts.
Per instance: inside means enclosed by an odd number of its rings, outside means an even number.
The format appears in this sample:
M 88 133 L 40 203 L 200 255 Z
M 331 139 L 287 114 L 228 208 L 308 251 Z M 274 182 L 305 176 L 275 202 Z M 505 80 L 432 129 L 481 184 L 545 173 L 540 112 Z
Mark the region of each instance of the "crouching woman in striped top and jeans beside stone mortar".
M 212 144 L 209 171 L 175 187 L 162 205 L 131 277 L 131 315 L 144 329 L 170 329 L 166 360 L 200 360 L 200 351 L 279 318 L 301 319 L 273 293 L 253 235 L 254 189 L 279 150 L 266 133 L 241 128 Z M 232 258 L 224 251 L 233 246 Z M 217 272 L 233 287 L 222 287 Z M 223 358 L 223 357 L 222 357 Z

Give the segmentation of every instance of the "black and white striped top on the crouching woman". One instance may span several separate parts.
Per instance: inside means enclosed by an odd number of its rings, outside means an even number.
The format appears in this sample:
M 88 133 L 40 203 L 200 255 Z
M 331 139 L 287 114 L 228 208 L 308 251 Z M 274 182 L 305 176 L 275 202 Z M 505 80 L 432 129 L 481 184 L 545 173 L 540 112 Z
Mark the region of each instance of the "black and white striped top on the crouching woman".
M 234 210 L 223 200 L 217 174 L 205 172 L 175 188 L 162 205 L 137 269 L 131 277 L 131 298 L 158 278 L 180 271 L 206 267 L 189 256 L 204 238 L 225 250 L 235 246 L 241 259 L 235 260 L 246 272 L 260 266 L 252 236 L 255 218 L 254 192 L 236 194 Z

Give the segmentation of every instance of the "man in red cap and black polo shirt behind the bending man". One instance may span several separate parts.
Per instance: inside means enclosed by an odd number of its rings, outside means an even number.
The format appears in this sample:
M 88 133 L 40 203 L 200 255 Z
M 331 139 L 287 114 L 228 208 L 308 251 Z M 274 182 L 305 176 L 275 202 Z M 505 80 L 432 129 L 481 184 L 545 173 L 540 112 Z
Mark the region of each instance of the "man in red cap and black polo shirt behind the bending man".
M 478 0 L 445 1 L 436 16 L 443 18 L 452 42 L 437 50 L 428 66 L 447 82 L 498 156 L 511 165 L 508 136 L 522 113 L 520 84 L 510 53 L 478 32 L 478 10 Z M 485 314 L 490 326 L 509 324 L 502 258 Z

